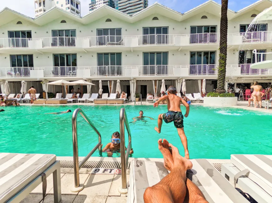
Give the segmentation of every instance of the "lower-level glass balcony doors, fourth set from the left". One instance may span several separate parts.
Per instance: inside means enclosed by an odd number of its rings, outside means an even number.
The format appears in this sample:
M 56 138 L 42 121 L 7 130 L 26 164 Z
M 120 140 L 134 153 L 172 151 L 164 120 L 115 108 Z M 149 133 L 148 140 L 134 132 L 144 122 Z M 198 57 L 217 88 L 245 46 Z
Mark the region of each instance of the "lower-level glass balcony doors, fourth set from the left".
M 167 75 L 168 52 L 144 52 L 144 75 Z

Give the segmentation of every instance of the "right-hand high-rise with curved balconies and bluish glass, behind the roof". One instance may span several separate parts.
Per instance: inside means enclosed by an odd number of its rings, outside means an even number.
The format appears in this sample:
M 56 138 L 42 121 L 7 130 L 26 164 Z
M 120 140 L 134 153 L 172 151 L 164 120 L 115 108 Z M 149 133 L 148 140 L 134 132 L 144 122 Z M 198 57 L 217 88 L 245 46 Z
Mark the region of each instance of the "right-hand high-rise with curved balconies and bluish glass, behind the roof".
M 115 8 L 128 15 L 133 15 L 148 7 L 148 0 L 91 0 L 89 12 L 100 8 L 103 5 Z

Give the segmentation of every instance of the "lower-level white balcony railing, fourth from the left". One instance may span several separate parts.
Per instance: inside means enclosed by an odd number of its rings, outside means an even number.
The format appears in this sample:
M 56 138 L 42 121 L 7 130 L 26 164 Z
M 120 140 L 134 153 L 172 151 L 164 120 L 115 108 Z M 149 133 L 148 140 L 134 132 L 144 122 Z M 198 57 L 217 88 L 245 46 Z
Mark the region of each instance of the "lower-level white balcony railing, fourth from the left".
M 139 66 L 139 75 L 174 75 L 175 65 Z

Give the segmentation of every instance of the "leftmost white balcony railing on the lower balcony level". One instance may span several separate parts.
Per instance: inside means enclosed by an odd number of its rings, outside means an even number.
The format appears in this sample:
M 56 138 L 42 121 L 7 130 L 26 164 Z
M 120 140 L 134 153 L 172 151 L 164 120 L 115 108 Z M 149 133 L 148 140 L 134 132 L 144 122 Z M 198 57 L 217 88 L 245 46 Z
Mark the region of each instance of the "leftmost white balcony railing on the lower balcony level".
M 0 78 L 30 77 L 30 67 L 0 68 Z

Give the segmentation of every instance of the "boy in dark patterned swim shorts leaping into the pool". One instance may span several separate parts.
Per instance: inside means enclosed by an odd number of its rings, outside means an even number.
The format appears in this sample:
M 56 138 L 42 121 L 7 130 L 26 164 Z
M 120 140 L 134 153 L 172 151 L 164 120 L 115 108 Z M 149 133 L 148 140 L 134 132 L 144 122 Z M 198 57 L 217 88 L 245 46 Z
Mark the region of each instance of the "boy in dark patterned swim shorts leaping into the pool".
M 177 128 L 177 133 L 180 137 L 180 140 L 182 142 L 182 145 L 184 147 L 184 153 L 185 153 L 185 158 L 189 159 L 189 151 L 188 151 L 188 146 L 187 146 L 187 138 L 184 133 L 184 125 L 183 125 L 183 115 L 180 110 L 180 103 L 182 103 L 186 107 L 186 114 L 184 115 L 185 118 L 188 117 L 189 115 L 189 104 L 187 102 L 176 96 L 177 94 L 177 89 L 174 86 L 170 86 L 167 90 L 167 94 L 160 97 L 160 99 L 154 103 L 154 107 L 158 107 L 160 101 L 163 101 L 167 99 L 167 108 L 168 112 L 164 114 L 160 114 L 158 117 L 158 127 L 155 127 L 155 130 L 160 133 L 161 130 L 161 125 L 162 125 L 162 119 L 166 123 L 171 123 L 174 121 L 174 125 Z

